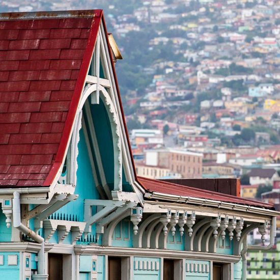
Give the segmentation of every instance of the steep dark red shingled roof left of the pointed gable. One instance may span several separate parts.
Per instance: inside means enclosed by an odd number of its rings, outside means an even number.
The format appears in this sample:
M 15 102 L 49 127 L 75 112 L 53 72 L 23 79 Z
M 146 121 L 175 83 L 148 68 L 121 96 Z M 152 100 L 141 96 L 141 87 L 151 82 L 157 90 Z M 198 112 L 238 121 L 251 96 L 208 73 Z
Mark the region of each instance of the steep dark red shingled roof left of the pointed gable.
M 102 11 L 29 16 L 2 14 L 7 20 L 0 20 L 0 186 L 48 186 L 53 181 Z

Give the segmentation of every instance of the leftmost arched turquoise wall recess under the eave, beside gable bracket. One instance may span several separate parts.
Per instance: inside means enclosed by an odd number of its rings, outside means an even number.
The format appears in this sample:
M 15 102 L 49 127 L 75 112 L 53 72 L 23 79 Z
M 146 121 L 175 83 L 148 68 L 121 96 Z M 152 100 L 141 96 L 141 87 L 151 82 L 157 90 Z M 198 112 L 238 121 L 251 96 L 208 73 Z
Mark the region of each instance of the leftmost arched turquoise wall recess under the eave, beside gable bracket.
M 132 248 L 132 238 L 133 223 L 129 219 L 123 219 L 118 223 L 114 230 L 112 246 Z

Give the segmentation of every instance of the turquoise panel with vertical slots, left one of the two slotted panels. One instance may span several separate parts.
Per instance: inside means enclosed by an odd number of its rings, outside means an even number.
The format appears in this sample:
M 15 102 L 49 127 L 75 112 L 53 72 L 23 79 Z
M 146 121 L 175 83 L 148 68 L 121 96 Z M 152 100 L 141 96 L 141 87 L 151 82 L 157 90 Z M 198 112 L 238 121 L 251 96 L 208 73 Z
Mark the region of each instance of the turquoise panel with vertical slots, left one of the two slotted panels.
M 160 280 L 160 258 L 134 257 L 133 280 Z

